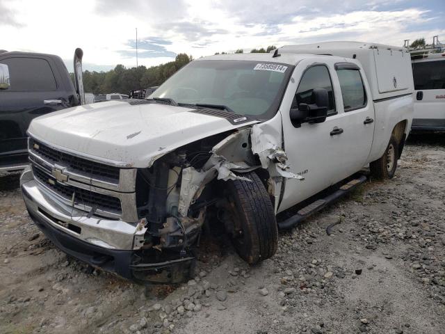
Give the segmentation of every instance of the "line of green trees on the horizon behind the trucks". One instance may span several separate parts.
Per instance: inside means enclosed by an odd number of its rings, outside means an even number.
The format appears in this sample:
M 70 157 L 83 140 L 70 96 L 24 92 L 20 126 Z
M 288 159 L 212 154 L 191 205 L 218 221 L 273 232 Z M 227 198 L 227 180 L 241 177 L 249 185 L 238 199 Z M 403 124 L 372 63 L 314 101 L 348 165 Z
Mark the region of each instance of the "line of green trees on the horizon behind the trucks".
M 263 53 L 273 49 L 275 46 L 270 45 L 266 49 L 261 47 L 261 49 L 252 49 L 250 52 Z M 235 51 L 236 54 L 243 52 L 243 49 Z M 228 52 L 221 52 L 221 54 L 228 54 Z M 116 65 L 113 70 L 108 72 L 86 70 L 83 71 L 83 86 L 86 92 L 93 94 L 128 94 L 132 89 L 144 89 L 163 84 L 172 74 L 191 61 L 193 61 L 192 56 L 178 54 L 175 61 L 148 68 L 145 66 L 127 68 L 124 65 Z M 74 81 L 74 74 L 71 76 Z

